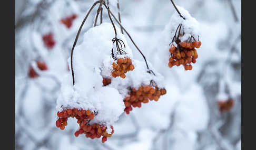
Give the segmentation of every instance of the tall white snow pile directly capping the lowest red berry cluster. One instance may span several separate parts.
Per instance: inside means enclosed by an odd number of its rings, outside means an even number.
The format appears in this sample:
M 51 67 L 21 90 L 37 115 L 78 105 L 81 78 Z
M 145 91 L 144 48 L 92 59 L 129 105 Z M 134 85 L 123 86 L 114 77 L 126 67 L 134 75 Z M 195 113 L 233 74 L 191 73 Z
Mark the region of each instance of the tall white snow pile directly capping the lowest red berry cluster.
M 117 28 L 117 30 L 120 29 Z M 75 85 L 73 85 L 70 71 L 62 83 L 61 94 L 57 100 L 58 111 L 67 108 L 95 110 L 97 115 L 92 123 L 100 124 L 113 124 L 123 113 L 123 98 L 119 92 L 114 88 L 102 86 L 101 74 L 105 70 L 102 68 L 102 63 L 112 59 L 113 37 L 115 34 L 110 23 L 93 27 L 84 34 L 82 44 L 75 47 L 73 52 Z M 127 44 L 120 31 L 117 37 Z M 132 56 L 128 46 L 125 51 L 130 57 Z M 68 63 L 70 59 L 68 58 Z

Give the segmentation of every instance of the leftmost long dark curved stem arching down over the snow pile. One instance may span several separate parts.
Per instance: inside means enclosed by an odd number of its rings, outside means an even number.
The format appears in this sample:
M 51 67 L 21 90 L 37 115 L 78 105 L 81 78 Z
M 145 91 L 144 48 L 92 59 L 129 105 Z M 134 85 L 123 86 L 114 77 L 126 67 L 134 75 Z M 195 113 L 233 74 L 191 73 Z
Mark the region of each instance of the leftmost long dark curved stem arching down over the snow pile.
M 101 3 L 101 2 L 102 2 L 102 1 L 97 1 L 97 2 L 95 2 L 95 3 L 92 5 L 92 7 L 89 9 L 88 13 L 86 14 L 86 16 L 85 16 L 85 18 L 84 18 L 84 20 L 83 20 L 83 22 L 82 22 L 82 24 L 81 24 L 81 26 L 80 26 L 80 28 L 79 28 L 77 34 L 76 34 L 75 41 L 74 41 L 74 44 L 73 44 L 73 47 L 72 47 L 72 50 L 71 50 L 71 59 L 70 59 L 70 61 L 71 61 L 71 71 L 72 71 L 73 85 L 75 84 L 75 76 L 74 76 L 74 70 L 73 70 L 73 52 L 74 52 L 74 48 L 75 48 L 77 39 L 78 39 L 78 37 L 79 37 L 79 35 L 80 35 L 80 32 L 81 32 L 81 30 L 82 30 L 82 27 L 83 27 L 83 25 L 84 25 L 84 23 L 85 23 L 87 17 L 88 17 L 88 16 L 90 15 L 90 13 L 92 12 L 92 9 L 93 9 L 98 3 Z

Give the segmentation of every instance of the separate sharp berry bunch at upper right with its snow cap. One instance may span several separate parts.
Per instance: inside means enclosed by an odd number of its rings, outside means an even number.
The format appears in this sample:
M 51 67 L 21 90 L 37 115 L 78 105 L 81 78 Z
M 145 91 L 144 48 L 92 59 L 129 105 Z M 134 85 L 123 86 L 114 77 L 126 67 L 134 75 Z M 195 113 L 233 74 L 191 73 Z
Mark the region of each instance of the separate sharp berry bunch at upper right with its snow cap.
M 182 7 L 178 7 L 185 19 L 178 13 L 174 13 L 165 32 L 168 33 L 170 41 L 168 66 L 183 65 L 185 70 L 192 70 L 191 62 L 195 63 L 198 53 L 195 48 L 200 48 L 199 23 L 191 17 L 189 12 Z

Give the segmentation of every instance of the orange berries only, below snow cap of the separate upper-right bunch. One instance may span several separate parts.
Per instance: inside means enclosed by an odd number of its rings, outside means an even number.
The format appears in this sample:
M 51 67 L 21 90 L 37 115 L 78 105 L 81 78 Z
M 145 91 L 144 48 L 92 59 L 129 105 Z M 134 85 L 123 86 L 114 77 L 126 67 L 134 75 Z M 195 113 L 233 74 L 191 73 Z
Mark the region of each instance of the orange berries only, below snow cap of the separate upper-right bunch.
M 191 62 L 195 63 L 198 58 L 198 53 L 195 48 L 200 48 L 201 41 L 194 42 L 180 42 L 178 47 L 171 45 L 169 51 L 171 52 L 171 57 L 169 58 L 168 66 L 172 68 L 173 66 L 183 65 L 185 70 L 192 70 Z

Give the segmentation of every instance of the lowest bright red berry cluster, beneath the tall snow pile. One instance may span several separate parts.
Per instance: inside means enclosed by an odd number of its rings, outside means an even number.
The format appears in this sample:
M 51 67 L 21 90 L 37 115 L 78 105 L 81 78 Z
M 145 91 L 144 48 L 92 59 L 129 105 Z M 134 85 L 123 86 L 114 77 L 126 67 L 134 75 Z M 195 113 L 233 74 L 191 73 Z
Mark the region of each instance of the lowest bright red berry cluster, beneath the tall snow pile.
M 111 135 L 114 133 L 113 126 L 111 126 L 112 133 L 107 134 L 107 127 L 105 125 L 96 123 L 89 125 L 88 123 L 90 120 L 93 120 L 94 118 L 94 113 L 90 110 L 67 109 L 61 112 L 57 112 L 57 116 L 58 120 L 56 121 L 56 126 L 60 127 L 61 130 L 65 129 L 68 117 L 75 117 L 77 119 L 77 123 L 80 125 L 80 129 L 75 132 L 76 137 L 83 133 L 86 137 L 90 137 L 92 139 L 100 138 L 103 136 L 102 143 L 104 143 L 107 140 L 107 137 L 111 137 Z

